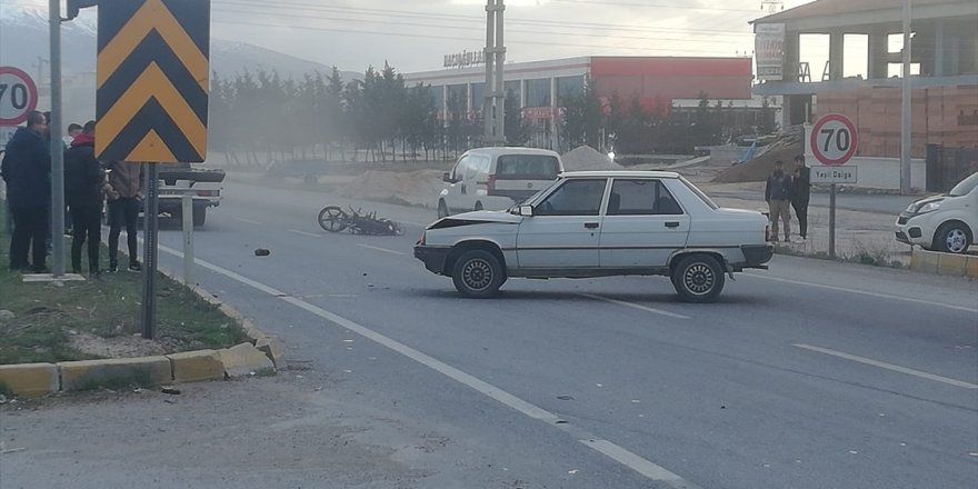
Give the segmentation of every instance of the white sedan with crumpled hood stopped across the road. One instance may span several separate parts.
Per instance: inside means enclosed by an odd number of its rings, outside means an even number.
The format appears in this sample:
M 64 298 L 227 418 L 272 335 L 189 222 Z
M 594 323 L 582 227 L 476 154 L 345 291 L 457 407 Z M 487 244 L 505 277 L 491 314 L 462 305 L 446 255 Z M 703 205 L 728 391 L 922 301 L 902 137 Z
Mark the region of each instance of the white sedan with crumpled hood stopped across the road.
M 769 233 L 760 212 L 720 208 L 677 173 L 582 171 L 509 211 L 436 221 L 415 257 L 466 297 L 510 277 L 668 276 L 680 298 L 708 302 L 726 273 L 766 268 Z

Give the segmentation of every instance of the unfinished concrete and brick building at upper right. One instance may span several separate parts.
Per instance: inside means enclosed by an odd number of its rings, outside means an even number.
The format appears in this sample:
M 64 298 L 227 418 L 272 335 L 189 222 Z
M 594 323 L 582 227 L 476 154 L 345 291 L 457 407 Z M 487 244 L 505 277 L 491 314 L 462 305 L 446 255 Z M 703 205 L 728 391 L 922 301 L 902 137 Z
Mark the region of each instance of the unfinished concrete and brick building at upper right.
M 757 96 L 784 97 L 782 126 L 844 113 L 859 131 L 859 154 L 899 157 L 902 23 L 906 0 L 817 0 L 754 21 Z M 978 2 L 914 0 L 910 9 L 911 153 L 928 143 L 978 147 Z M 779 33 L 775 44 L 762 36 Z M 812 39 L 815 37 L 815 39 Z M 802 42 L 828 38 L 828 62 L 801 60 Z M 855 49 L 854 49 L 855 48 Z M 772 70 L 769 71 L 769 69 Z

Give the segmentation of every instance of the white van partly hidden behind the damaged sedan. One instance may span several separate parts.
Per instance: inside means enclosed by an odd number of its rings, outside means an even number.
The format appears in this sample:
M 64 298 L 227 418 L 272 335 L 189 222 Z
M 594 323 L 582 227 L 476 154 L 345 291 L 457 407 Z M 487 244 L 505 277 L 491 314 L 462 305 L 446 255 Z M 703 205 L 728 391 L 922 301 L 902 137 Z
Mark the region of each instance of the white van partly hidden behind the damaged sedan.
M 438 197 L 438 217 L 470 210 L 505 210 L 529 199 L 563 172 L 560 156 L 535 148 L 478 148 L 466 151 Z

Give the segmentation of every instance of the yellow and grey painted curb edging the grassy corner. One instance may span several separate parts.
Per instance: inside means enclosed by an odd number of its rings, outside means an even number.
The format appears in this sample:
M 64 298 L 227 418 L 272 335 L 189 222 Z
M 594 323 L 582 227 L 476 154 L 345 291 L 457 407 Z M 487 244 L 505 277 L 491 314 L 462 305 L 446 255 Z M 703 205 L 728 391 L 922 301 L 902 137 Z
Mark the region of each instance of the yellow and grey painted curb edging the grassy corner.
M 180 281 L 168 270 L 159 271 Z M 286 352 L 281 340 L 262 332 L 238 310 L 221 302 L 200 286 L 187 287 L 234 320 L 250 341 L 221 350 L 184 351 L 156 357 L 0 365 L 0 392 L 38 398 L 100 387 L 128 387 L 132 383 L 150 387 L 273 375 L 286 368 Z

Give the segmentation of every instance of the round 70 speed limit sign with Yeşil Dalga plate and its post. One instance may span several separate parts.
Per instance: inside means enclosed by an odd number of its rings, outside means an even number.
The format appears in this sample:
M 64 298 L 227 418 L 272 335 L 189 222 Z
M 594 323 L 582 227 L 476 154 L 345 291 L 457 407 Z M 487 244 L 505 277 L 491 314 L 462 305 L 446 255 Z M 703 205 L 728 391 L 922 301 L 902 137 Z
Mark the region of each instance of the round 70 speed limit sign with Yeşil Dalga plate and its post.
M 822 116 L 809 134 L 809 148 L 824 167 L 814 171 L 812 182 L 829 183 L 829 256 L 836 256 L 836 184 L 855 183 L 856 169 L 840 168 L 856 154 L 858 136 L 856 124 L 841 113 Z

